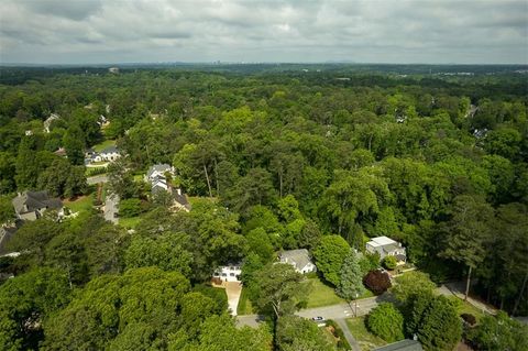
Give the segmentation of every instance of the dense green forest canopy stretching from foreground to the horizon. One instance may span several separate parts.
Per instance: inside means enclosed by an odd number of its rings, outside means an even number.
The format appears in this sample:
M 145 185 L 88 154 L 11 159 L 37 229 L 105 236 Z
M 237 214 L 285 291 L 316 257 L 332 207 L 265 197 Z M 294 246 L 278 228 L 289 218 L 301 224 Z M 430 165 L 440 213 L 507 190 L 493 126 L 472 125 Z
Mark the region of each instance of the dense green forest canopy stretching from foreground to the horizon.
M 327 350 L 316 333 L 295 341 L 288 332 L 310 327 L 273 312 L 258 292 L 275 290 L 275 252 L 317 259 L 337 235 L 360 252 L 369 238 L 391 237 L 436 283 L 471 275 L 483 300 L 528 314 L 526 75 L 272 68 L 6 76 L 2 221 L 13 219 L 16 191 L 90 191 L 84 153 L 103 140 L 127 155 L 118 165 L 125 199 L 143 200 L 132 174 L 156 163 L 174 165 L 172 180 L 200 199 L 188 213 L 151 204 L 133 234 L 95 211 L 24 224 L 9 242 L 23 254 L 0 259 L 15 274 L 0 286 L 0 344 L 241 350 L 229 349 L 237 339 L 244 350 Z M 51 113 L 61 119 L 46 133 Z M 103 132 L 100 114 L 110 121 Z M 254 304 L 276 315 L 273 326 L 237 329 L 226 301 L 204 288 L 216 266 L 238 260 L 244 283 L 260 282 Z

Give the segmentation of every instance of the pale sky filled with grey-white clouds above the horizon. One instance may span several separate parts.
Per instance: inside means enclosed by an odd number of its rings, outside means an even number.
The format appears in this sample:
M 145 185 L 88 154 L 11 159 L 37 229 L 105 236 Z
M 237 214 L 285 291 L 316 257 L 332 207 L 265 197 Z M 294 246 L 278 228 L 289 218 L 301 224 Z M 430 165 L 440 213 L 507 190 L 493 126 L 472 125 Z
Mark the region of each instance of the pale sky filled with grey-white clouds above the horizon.
M 1 63 L 528 63 L 528 0 L 1 0 Z

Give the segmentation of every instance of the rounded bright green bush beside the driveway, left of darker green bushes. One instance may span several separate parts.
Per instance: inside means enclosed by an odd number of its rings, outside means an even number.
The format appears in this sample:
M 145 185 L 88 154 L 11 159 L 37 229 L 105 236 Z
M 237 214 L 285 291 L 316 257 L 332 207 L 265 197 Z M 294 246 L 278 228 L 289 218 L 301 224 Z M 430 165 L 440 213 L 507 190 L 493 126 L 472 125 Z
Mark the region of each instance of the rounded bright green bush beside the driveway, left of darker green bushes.
M 374 308 L 366 319 L 367 328 L 387 342 L 404 339 L 404 316 L 393 304 L 383 303 Z

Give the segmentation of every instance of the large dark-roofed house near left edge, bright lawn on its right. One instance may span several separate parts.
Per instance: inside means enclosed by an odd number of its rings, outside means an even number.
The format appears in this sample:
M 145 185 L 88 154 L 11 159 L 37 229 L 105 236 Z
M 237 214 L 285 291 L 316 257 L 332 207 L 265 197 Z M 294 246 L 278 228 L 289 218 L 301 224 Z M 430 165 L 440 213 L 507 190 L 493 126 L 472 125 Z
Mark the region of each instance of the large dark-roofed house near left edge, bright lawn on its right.
M 16 217 L 22 220 L 35 220 L 41 218 L 48 209 L 62 211 L 61 199 L 50 198 L 47 191 L 24 191 L 12 200 Z

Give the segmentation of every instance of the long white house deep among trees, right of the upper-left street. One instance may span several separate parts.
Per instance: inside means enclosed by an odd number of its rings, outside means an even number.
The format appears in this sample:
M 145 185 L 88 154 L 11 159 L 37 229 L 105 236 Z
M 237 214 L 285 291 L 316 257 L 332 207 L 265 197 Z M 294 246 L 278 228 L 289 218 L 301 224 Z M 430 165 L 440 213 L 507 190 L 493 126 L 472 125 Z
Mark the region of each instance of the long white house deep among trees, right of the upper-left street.
M 176 175 L 176 169 L 173 166 L 167 164 L 157 164 L 153 165 L 146 172 L 144 180 L 151 184 L 151 191 L 153 195 L 166 191 L 173 197 L 172 210 L 190 210 L 190 204 L 187 199 L 187 196 L 183 194 L 180 188 L 173 188 L 170 182 L 167 179 L 167 176 L 174 177 Z

